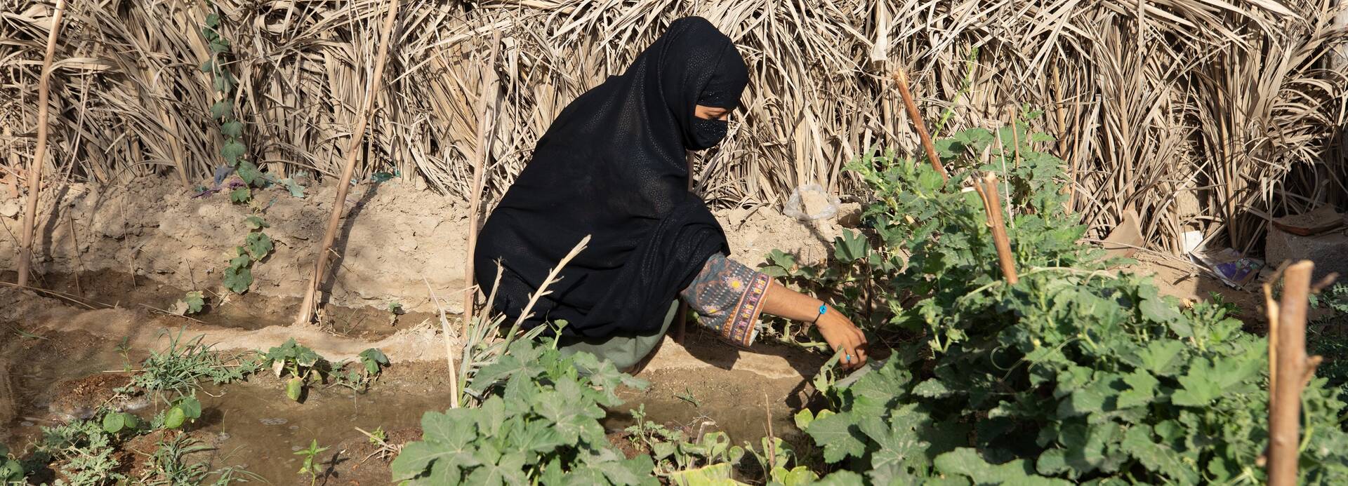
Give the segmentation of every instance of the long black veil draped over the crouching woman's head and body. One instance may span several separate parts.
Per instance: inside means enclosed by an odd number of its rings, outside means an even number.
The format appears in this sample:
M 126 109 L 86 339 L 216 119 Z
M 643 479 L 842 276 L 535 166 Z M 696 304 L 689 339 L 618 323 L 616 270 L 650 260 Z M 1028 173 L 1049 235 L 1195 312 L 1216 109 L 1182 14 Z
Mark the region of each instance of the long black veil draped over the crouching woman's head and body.
M 483 226 L 477 281 L 491 285 L 496 261 L 504 267 L 496 310 L 516 318 L 589 234 L 527 326 L 566 320 L 562 333 L 577 337 L 659 328 L 706 258 L 729 253 L 720 223 L 687 191 L 685 159 L 718 143 L 725 121 L 696 117 L 694 105 L 733 109 L 747 83 L 731 39 L 683 18 L 625 73 L 568 105 Z

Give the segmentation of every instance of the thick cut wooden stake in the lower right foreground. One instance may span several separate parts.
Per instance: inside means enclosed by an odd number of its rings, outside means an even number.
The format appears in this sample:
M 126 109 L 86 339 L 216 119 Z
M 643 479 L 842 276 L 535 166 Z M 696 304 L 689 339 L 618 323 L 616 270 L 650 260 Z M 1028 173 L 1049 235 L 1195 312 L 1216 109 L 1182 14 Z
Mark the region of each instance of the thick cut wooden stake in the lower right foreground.
M 1278 368 L 1275 394 L 1268 397 L 1268 485 L 1297 483 L 1297 456 L 1299 446 L 1301 389 L 1308 370 L 1314 372 L 1306 358 L 1306 307 L 1310 292 L 1310 261 L 1287 267 L 1282 280 L 1282 303 L 1278 306 Z M 1317 359 L 1318 362 L 1318 359 Z M 1271 365 L 1270 365 L 1271 366 Z

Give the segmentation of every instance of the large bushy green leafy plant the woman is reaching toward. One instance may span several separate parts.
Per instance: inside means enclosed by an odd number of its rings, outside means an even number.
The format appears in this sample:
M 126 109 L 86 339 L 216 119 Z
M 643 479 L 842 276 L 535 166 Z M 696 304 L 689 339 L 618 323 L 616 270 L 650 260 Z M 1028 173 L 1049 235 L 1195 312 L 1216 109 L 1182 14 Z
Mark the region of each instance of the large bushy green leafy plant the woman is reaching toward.
M 825 482 L 1264 481 L 1264 339 L 1228 306 L 1181 308 L 1148 279 L 1107 271 L 1062 210 L 1062 162 L 1035 148 L 1047 140 L 1029 120 L 954 133 L 937 143 L 949 182 L 892 152 L 849 164 L 872 191 L 875 237 L 861 253 L 836 245 L 865 267 L 830 284 L 874 298 L 869 322 L 918 333 L 925 349 L 860 377 L 822 374 L 832 405 L 801 419 L 824 459 L 847 470 Z M 1002 279 L 981 201 L 961 190 L 981 172 L 1003 184 L 1015 285 Z M 1306 483 L 1348 481 L 1344 404 L 1325 384 L 1312 380 L 1302 396 Z

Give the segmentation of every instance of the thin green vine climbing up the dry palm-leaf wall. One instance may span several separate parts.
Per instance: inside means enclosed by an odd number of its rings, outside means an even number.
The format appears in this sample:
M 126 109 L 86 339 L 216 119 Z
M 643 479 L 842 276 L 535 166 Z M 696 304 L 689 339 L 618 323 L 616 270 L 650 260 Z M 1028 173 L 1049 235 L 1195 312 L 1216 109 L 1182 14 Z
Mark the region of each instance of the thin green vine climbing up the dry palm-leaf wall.
M 239 83 L 226 67 L 225 61 L 231 54 L 231 43 L 220 31 L 218 13 L 206 15 L 201 34 L 210 44 L 210 59 L 201 63 L 201 71 L 210 73 L 217 100 L 210 105 L 210 116 L 220 123 L 220 135 L 225 141 L 220 149 L 225 166 L 216 171 L 216 183 L 218 184 L 229 172 L 237 175 L 237 179 L 229 180 L 229 201 L 236 205 L 247 205 L 252 210 L 252 214 L 244 218 L 248 236 L 244 237 L 243 245 L 235 246 L 224 276 L 225 288 L 235 293 L 244 293 L 252 285 L 253 265 L 272 250 L 271 237 L 264 233 L 268 223 L 263 215 L 268 205 L 253 199 L 253 188 L 267 187 L 271 180 L 262 174 L 257 164 L 247 158 L 248 145 L 243 140 L 244 124 L 235 116 Z

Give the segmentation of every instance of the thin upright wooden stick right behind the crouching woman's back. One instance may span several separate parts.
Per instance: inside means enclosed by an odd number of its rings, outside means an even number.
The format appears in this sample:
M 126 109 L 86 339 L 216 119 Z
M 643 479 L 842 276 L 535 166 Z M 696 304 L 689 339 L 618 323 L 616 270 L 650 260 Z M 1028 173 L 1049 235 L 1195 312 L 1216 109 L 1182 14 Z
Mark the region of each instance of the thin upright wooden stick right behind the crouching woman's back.
M 492 118 L 488 112 L 496 109 L 496 53 L 500 48 L 500 31 L 492 36 L 492 51 L 487 57 L 487 70 L 483 73 L 483 93 L 477 100 L 477 156 L 473 158 L 473 194 L 468 203 L 468 257 L 465 258 L 464 281 L 468 291 L 464 292 L 464 335 L 468 335 L 468 326 L 473 322 L 473 302 L 477 300 L 476 277 L 473 276 L 473 252 L 477 249 L 477 211 L 483 201 L 483 172 L 487 167 L 487 158 L 491 156 L 491 129 Z

